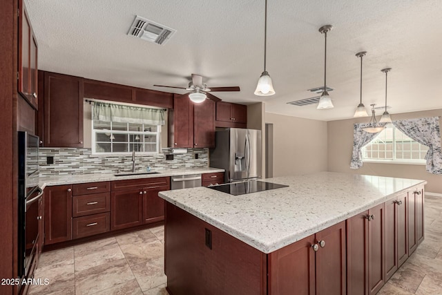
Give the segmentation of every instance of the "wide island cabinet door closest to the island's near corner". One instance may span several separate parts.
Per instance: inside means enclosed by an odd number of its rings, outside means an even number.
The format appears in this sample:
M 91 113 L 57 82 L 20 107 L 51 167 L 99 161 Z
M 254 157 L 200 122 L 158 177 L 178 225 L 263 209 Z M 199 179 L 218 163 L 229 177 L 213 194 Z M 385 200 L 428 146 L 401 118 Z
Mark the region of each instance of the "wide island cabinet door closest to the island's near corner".
M 311 235 L 268 255 L 269 294 L 315 294 L 314 243 Z

